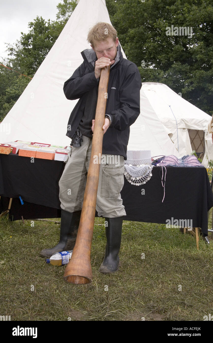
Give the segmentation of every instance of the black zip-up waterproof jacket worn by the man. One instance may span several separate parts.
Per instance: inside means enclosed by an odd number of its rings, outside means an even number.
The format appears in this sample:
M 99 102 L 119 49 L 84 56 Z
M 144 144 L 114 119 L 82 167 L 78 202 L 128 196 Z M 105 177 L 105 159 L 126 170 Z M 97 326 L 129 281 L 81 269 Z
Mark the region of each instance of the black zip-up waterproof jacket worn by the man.
M 83 63 L 64 83 L 67 99 L 79 99 L 72 110 L 66 135 L 75 142 L 76 130 L 84 113 L 86 98 L 91 88 L 97 86 L 94 66 L 97 60 L 93 49 L 81 52 Z M 103 154 L 121 155 L 127 159 L 127 145 L 130 126 L 140 113 L 141 76 L 137 66 L 123 58 L 120 45 L 117 48 L 115 63 L 110 67 L 106 114 L 111 117 L 111 125 L 103 136 Z

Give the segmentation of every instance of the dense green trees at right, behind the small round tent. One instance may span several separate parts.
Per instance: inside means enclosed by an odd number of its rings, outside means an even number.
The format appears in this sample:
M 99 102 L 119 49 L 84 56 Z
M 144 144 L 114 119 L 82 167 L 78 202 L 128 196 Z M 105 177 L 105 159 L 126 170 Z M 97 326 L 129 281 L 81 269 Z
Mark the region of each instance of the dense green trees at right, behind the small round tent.
M 106 0 L 110 20 L 142 82 L 161 82 L 213 114 L 212 0 Z M 167 35 L 167 27 L 192 27 Z M 144 62 L 143 62 L 144 61 Z

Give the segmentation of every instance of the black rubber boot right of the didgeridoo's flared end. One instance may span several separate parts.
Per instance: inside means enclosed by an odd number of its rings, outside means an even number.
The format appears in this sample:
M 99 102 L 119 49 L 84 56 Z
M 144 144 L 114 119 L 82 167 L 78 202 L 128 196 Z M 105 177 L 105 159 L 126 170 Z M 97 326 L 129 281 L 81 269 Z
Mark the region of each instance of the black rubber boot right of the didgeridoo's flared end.
M 102 274 L 115 273 L 120 267 L 118 256 L 121 246 L 121 232 L 123 217 L 105 218 L 106 226 L 106 250 L 104 261 L 102 262 L 99 272 Z

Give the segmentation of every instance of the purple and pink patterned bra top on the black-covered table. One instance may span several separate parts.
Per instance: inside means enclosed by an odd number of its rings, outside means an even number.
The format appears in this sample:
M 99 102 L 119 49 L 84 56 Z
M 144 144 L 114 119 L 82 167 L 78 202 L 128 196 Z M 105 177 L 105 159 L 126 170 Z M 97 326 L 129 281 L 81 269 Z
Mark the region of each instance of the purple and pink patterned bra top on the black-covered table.
M 194 155 L 186 155 L 177 158 L 174 155 L 164 156 L 157 166 L 171 166 L 171 167 L 204 167 Z M 205 167 L 204 167 L 205 168 Z

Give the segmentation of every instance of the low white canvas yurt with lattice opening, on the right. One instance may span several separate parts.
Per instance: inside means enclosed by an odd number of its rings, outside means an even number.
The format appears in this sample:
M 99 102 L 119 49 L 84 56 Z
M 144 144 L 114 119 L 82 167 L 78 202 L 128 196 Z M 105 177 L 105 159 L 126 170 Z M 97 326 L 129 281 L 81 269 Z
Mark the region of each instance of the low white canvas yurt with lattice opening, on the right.
M 152 156 L 173 154 L 182 157 L 195 150 L 207 166 L 206 157 L 213 159 L 212 135 L 208 132 L 210 121 L 207 113 L 168 86 L 144 82 L 141 88 L 141 114 L 131 126 L 128 149 L 136 150 L 137 140 L 141 136 L 139 141 L 143 142 L 143 149 L 140 150 L 149 149 Z M 150 139 L 150 131 L 154 139 Z

